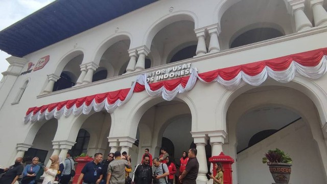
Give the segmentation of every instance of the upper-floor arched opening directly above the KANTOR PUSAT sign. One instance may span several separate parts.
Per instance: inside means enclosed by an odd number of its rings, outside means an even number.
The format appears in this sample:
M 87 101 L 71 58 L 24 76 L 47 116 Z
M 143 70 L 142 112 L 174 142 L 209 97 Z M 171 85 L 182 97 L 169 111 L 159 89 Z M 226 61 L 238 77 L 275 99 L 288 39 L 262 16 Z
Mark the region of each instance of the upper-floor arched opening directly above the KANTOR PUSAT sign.
M 172 17 L 171 17 L 172 18 Z M 188 17 L 184 20 L 173 21 L 170 24 L 162 27 L 152 39 L 151 42 L 151 53 L 150 55 L 154 58 L 154 66 L 166 64 L 171 62 L 171 52 L 184 45 L 185 43 L 197 42 L 197 37 L 194 32 L 194 21 Z M 172 18 L 173 19 L 173 18 Z M 177 20 L 177 18 L 176 18 Z M 164 24 L 164 23 L 162 23 Z M 162 26 L 162 25 L 161 25 Z M 185 45 L 184 45 L 185 47 Z M 178 48 L 185 49 L 174 57 L 174 61 L 181 59 L 192 58 L 195 54 L 192 48 Z M 187 53 L 187 51 L 192 51 Z

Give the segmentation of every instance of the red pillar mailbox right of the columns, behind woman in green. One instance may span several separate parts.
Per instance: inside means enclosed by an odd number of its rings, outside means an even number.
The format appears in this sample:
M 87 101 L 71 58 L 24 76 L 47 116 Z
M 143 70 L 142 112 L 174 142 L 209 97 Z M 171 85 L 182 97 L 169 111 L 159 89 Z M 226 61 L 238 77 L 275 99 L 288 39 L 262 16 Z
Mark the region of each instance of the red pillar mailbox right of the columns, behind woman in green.
M 223 165 L 223 168 L 225 170 L 224 172 L 224 184 L 232 184 L 232 175 L 231 175 L 231 165 L 234 163 L 234 159 L 232 159 L 230 156 L 225 155 L 223 152 L 221 152 L 218 156 L 212 156 L 209 158 L 209 162 L 215 164 L 217 162 L 220 162 Z M 214 165 L 213 169 L 213 175 L 216 176 L 216 168 Z

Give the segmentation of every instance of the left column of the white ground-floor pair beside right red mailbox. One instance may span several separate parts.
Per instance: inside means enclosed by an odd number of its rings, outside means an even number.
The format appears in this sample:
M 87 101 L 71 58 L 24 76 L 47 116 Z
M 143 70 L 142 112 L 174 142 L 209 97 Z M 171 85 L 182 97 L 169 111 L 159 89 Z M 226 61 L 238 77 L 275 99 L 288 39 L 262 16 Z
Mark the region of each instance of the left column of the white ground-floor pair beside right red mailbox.
M 207 177 L 206 173 L 208 172 L 207 162 L 206 162 L 206 154 L 205 154 L 205 145 L 207 143 L 208 137 L 203 133 L 191 132 L 192 137 L 194 138 L 194 144 L 196 145 L 196 149 L 198 151 L 197 159 L 199 162 L 199 173 L 196 178 L 197 183 L 206 183 Z

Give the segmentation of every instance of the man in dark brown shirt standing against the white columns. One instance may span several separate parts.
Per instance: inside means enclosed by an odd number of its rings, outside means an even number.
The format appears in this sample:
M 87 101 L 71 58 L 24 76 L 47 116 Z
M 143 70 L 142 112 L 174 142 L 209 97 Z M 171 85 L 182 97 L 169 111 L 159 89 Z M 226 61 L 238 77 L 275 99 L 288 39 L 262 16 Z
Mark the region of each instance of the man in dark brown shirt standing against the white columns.
M 183 184 L 196 184 L 196 178 L 199 173 L 199 162 L 196 158 L 197 150 L 191 148 L 189 150 L 189 162 L 186 164 L 186 168 L 179 176 L 179 182 Z

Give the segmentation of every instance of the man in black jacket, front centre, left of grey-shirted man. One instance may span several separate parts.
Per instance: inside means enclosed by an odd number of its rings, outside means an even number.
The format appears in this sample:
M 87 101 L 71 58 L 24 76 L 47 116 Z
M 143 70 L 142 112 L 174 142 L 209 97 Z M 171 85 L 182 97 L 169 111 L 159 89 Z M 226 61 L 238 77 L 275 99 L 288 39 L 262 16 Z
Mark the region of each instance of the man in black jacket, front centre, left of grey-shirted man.
M 143 156 L 143 163 L 136 166 L 132 182 L 137 184 L 151 184 L 152 183 L 152 167 L 149 165 L 150 156 L 145 154 Z

